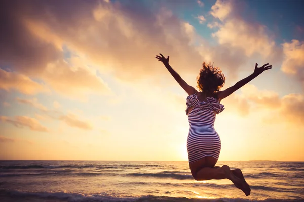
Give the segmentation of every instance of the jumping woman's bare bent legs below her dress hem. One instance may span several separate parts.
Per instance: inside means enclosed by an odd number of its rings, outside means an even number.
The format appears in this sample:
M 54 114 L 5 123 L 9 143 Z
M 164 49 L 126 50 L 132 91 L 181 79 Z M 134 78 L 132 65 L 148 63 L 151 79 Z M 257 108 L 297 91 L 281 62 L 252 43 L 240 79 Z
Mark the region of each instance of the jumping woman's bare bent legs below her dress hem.
M 214 157 L 204 157 L 196 162 L 190 163 L 191 174 L 195 180 L 229 179 L 234 185 L 241 189 L 246 196 L 250 195 L 250 190 L 246 188 L 244 181 L 233 174 L 229 166 L 223 165 L 221 168 L 214 168 L 217 159 Z

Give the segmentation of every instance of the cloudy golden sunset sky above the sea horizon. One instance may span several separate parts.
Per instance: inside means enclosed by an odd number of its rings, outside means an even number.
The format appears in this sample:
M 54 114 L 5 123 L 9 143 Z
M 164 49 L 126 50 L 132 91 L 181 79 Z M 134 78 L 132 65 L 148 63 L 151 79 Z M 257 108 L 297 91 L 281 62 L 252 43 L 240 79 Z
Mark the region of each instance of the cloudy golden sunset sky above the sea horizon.
M 304 161 L 302 1 L 1 1 L 0 160 L 187 161 L 203 61 L 224 90 L 219 161 Z

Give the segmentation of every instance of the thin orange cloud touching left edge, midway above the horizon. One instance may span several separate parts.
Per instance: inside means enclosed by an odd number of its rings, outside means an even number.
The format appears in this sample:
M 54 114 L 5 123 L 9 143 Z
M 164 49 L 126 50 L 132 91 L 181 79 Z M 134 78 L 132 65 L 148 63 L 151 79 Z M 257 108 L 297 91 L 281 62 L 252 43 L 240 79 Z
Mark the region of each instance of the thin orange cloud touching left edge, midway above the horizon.
M 18 128 L 28 127 L 30 130 L 48 132 L 48 129 L 42 126 L 39 121 L 26 116 L 15 116 L 14 118 L 0 116 L 0 121 L 11 123 Z

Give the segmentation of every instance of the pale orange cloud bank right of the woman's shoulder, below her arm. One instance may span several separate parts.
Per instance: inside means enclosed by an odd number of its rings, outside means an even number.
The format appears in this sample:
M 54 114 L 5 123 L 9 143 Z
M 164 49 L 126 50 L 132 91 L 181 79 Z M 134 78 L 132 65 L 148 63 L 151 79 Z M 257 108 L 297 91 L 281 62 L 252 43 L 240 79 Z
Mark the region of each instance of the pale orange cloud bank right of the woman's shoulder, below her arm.
M 247 116 L 251 111 L 267 111 L 270 115 L 264 119 L 269 123 L 304 124 L 304 95 L 291 93 L 280 98 L 277 92 L 259 90 L 251 84 L 243 86 L 241 92 L 223 99 L 221 103 L 226 111 L 238 112 L 241 116 Z

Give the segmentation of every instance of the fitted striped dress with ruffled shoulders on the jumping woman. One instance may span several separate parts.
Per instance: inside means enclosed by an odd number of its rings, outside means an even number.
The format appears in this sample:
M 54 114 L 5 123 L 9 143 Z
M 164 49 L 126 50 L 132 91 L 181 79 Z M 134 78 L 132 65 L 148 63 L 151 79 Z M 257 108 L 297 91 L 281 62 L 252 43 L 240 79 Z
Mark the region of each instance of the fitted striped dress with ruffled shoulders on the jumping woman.
M 189 163 L 206 156 L 218 159 L 221 142 L 214 129 L 214 121 L 215 113 L 222 112 L 225 109 L 224 106 L 213 97 L 207 97 L 207 101 L 200 102 L 196 93 L 187 97 L 186 105 L 186 114 L 190 125 L 187 138 Z M 194 107 L 188 113 L 191 106 Z

